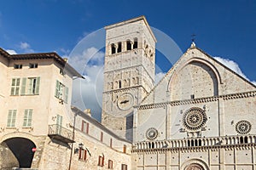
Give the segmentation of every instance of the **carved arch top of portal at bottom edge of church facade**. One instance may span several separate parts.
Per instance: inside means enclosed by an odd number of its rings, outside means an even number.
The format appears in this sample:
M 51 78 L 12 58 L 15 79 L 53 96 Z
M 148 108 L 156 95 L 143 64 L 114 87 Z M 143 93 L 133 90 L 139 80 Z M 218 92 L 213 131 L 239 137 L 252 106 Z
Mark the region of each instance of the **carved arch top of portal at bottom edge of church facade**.
M 183 170 L 210 170 L 205 161 L 200 159 L 191 159 L 185 161 L 181 167 Z

